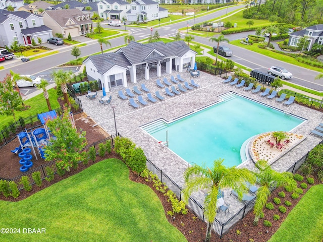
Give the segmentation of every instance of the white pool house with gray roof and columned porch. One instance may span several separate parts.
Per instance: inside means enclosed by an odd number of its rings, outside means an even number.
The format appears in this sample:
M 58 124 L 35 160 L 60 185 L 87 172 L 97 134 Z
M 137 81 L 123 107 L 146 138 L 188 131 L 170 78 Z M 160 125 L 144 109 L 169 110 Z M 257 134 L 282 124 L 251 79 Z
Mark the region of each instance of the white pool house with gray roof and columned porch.
M 114 53 L 91 55 L 84 60 L 88 80 L 100 80 L 106 91 L 127 82 L 137 83 L 137 72 L 161 77 L 172 70 L 183 72 L 194 66 L 196 52 L 183 41 L 164 43 L 162 41 L 141 44 L 131 41 L 126 47 Z M 155 80 L 153 80 L 155 81 Z

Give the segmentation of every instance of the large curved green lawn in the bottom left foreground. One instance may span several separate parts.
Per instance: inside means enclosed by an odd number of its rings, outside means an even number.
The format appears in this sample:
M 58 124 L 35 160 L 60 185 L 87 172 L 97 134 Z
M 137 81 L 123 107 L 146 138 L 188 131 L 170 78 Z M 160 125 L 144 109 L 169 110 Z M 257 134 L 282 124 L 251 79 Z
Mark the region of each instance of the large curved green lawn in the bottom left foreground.
M 90 166 L 20 202 L 0 201 L 5 228 L 45 234 L 3 234 L 2 241 L 187 241 L 166 219 L 147 186 L 129 180 L 118 159 Z

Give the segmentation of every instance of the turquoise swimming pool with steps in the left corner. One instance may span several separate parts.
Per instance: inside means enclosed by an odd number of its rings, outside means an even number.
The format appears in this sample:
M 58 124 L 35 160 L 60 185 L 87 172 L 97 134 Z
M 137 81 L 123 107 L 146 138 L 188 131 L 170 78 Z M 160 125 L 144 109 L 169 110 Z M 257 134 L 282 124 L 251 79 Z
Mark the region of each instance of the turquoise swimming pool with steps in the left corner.
M 227 166 L 239 165 L 242 144 L 254 135 L 270 131 L 292 131 L 304 119 L 286 114 L 242 96 L 228 93 L 223 101 L 167 123 L 155 121 L 141 127 L 157 141 L 193 164 L 212 166 L 225 159 Z

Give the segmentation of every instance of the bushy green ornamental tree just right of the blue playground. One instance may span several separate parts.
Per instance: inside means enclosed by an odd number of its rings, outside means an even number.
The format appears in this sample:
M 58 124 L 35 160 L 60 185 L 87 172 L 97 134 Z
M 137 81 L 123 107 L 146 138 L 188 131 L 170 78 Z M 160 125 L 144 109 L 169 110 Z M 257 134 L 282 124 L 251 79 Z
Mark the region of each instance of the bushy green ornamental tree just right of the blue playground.
M 56 161 L 61 174 L 70 171 L 70 167 L 76 167 L 77 163 L 84 159 L 84 153 L 81 151 L 87 144 L 85 132 L 78 132 L 73 127 L 69 113 L 70 109 L 65 109 L 61 118 L 46 122 L 55 139 L 50 138 L 49 145 L 46 146 L 45 160 Z

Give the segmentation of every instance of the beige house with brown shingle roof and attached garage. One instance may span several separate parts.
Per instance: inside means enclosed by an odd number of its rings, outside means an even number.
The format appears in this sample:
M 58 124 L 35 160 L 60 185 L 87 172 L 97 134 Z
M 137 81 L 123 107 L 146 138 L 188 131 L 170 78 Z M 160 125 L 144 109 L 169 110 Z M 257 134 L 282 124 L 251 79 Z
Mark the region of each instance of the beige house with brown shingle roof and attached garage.
M 61 33 L 64 38 L 80 36 L 93 32 L 93 22 L 89 14 L 79 9 L 46 10 L 41 15 L 46 26 L 52 29 L 53 34 Z

